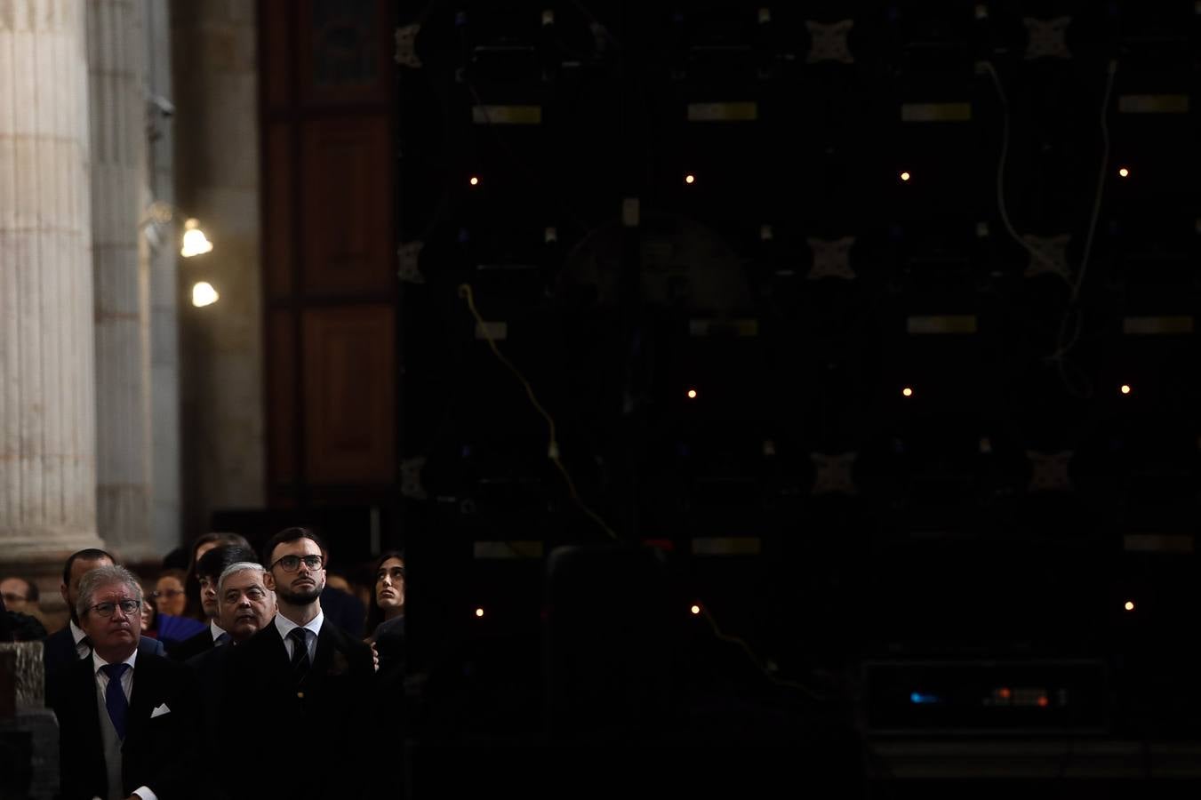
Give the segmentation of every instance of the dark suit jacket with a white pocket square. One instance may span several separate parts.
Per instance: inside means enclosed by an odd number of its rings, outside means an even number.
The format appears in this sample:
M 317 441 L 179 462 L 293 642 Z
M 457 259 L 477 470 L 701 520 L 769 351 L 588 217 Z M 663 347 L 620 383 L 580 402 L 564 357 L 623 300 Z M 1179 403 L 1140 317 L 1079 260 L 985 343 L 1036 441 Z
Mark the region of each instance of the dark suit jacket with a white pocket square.
M 148 786 L 160 800 L 195 796 L 199 691 L 184 664 L 138 653 L 121 744 L 121 788 L 126 795 Z M 153 717 L 159 706 L 169 711 Z M 62 800 L 107 796 L 104 747 L 100 732 L 96 675 L 91 658 L 77 658 L 62 675 L 54 706 L 59 718 Z

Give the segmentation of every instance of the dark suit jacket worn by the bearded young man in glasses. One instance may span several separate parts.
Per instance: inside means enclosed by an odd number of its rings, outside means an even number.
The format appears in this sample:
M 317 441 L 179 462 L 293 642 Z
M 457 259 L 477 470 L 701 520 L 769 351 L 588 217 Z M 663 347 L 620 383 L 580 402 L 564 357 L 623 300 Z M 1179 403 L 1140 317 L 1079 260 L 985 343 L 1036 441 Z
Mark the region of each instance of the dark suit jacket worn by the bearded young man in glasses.
M 223 716 L 229 728 L 270 727 L 269 735 L 256 744 L 261 748 L 257 759 L 234 765 L 229 794 L 286 794 L 293 800 L 363 796 L 372 764 L 371 649 L 327 617 L 317 637 L 312 667 L 298 685 L 283 639 L 271 620 L 234 646 L 228 658 L 231 680 L 225 686 Z M 313 760 L 305 762 L 306 757 Z M 305 764 L 309 768 L 299 770 Z

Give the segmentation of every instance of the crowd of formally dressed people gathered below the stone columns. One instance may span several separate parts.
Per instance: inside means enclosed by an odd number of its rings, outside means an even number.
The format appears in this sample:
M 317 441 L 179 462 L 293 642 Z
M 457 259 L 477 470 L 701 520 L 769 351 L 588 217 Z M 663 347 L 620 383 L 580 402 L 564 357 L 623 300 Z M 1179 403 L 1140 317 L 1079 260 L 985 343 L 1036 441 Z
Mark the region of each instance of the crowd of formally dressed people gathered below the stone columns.
M 151 587 L 80 550 L 52 634 L 34 583 L 0 581 L 0 639 L 43 640 L 64 800 L 395 796 L 395 774 L 369 766 L 402 753 L 404 554 L 377 560 L 365 607 L 329 585 L 311 530 L 285 529 L 261 555 L 207 535 Z

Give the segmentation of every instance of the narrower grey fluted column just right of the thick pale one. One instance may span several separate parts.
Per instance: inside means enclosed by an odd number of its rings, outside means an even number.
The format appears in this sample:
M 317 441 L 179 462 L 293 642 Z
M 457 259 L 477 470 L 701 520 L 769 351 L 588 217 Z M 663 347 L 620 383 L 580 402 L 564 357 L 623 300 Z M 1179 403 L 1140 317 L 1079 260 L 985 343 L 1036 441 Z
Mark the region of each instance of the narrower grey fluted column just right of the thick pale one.
M 149 252 L 138 249 L 148 199 L 144 47 L 141 0 L 89 0 L 96 525 L 126 561 L 155 556 Z

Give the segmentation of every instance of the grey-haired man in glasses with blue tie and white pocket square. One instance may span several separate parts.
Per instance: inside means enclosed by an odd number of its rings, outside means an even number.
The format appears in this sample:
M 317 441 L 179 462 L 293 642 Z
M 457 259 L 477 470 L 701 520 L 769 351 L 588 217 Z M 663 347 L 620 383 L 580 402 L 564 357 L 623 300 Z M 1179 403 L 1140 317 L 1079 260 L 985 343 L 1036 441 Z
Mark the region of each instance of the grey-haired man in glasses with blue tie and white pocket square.
M 62 675 L 62 800 L 193 796 L 198 689 L 183 664 L 138 652 L 142 586 L 103 566 L 79 583 L 76 615 L 92 650 Z

